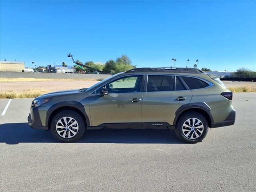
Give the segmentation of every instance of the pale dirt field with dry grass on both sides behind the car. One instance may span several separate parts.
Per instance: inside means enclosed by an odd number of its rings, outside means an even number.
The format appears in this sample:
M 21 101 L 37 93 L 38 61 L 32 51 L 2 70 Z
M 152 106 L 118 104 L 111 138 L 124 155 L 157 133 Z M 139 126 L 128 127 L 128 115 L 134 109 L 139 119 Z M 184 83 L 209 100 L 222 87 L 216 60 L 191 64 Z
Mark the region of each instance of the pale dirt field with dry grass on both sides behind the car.
M 78 81 L 77 80 L 83 80 Z M 36 98 L 42 94 L 49 92 L 79 89 L 84 87 L 90 87 L 95 84 L 92 81 L 102 79 L 38 79 L 38 78 L 0 78 L 1 99 L 14 99 L 14 98 Z M 51 82 L 50 88 L 48 82 Z M 64 83 L 59 83 L 64 81 Z M 72 82 L 74 81 L 74 82 Z M 13 83 L 9 86 L 9 83 Z M 38 83 L 33 83 L 38 82 Z M 43 82 L 46 82 L 45 84 Z M 80 83 L 81 82 L 81 83 Z M 34 85 L 35 84 L 35 85 Z M 228 85 L 228 89 L 234 93 L 237 92 L 256 92 L 256 82 L 225 82 Z M 47 85 L 47 86 L 45 86 Z M 12 90 L 9 90 L 9 89 Z M 41 89 L 38 89 L 41 88 Z

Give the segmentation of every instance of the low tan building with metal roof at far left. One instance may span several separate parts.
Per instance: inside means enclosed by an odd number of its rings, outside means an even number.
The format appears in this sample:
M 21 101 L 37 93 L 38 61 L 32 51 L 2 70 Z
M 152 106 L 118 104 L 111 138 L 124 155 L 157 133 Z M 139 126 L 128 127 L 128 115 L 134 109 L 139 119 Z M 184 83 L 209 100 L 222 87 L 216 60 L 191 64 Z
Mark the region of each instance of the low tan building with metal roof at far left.
M 22 72 L 25 69 L 25 62 L 0 61 L 0 71 Z

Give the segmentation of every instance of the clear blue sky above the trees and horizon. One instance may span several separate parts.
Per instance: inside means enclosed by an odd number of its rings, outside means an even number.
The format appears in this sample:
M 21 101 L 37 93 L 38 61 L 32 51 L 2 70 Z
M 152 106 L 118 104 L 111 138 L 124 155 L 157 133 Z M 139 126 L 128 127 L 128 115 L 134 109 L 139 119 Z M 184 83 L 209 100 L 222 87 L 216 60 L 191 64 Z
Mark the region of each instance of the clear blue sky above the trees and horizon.
M 0 60 L 256 71 L 255 1 L 1 1 Z

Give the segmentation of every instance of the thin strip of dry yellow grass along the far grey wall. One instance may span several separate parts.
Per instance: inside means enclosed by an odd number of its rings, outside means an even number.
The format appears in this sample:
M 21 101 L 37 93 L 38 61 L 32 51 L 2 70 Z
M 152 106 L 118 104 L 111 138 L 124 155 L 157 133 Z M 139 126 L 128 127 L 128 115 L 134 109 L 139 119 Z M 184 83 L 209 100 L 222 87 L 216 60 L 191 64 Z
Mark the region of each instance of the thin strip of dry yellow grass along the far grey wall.
M 103 79 L 40 79 L 40 78 L 0 78 L 1 83 L 8 82 L 46 82 L 46 81 L 102 81 Z

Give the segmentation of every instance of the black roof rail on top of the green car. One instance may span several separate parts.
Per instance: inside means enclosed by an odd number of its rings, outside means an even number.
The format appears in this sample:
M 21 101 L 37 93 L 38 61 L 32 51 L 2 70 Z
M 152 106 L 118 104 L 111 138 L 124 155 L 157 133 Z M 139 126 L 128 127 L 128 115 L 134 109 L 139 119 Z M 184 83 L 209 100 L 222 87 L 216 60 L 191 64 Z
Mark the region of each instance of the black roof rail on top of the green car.
M 196 68 L 175 68 L 175 67 L 157 67 L 157 68 L 135 68 L 126 71 L 130 72 L 176 72 L 176 73 L 204 73 L 202 70 Z

